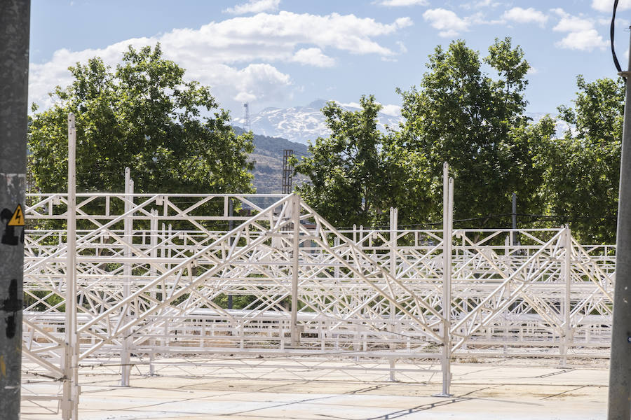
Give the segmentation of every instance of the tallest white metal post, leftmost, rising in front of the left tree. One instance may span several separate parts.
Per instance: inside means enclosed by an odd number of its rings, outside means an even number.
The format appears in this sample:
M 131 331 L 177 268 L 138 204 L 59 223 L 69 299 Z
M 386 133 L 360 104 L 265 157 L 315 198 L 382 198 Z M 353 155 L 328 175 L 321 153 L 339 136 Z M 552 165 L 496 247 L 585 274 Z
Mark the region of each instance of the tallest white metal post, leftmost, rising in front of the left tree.
M 79 341 L 76 337 L 76 125 L 74 113 L 68 114 L 68 209 L 66 231 L 65 349 L 62 417 L 76 419 L 79 407 L 77 364 Z

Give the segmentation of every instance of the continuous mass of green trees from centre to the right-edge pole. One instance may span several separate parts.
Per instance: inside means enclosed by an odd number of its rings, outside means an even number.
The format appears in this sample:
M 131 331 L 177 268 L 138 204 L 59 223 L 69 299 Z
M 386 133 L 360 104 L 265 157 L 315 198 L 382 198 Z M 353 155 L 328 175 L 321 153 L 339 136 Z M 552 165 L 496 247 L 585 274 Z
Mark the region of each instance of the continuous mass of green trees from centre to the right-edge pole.
M 448 162 L 458 227 L 510 227 L 517 193 L 522 227 L 569 223 L 582 241 L 615 241 L 622 80 L 578 76 L 574 107 L 558 109 L 571 129 L 557 139 L 554 118 L 526 116 L 529 64 L 510 38 L 486 57 L 463 41 L 438 46 L 427 66 L 418 87 L 398 90 L 405 120 L 396 131 L 377 129 L 372 96 L 360 111 L 325 106 L 331 135 L 295 167 L 311 178 L 297 188 L 311 206 L 338 226 L 384 225 L 391 206 L 400 225 L 439 222 Z

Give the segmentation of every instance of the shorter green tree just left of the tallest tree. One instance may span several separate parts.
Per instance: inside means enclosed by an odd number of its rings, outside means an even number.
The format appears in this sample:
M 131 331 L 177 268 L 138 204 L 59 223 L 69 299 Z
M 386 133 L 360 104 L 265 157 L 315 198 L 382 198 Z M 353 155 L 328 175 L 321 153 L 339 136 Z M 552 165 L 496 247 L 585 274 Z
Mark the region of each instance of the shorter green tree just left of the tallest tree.
M 387 223 L 390 207 L 399 207 L 404 223 L 416 221 L 416 209 L 428 204 L 426 165 L 392 133 L 378 130 L 381 105 L 372 95 L 361 97 L 360 106 L 345 111 L 329 102 L 323 108 L 331 135 L 316 139 L 308 147 L 311 156 L 297 163 L 295 172 L 311 179 L 297 190 L 337 226 Z

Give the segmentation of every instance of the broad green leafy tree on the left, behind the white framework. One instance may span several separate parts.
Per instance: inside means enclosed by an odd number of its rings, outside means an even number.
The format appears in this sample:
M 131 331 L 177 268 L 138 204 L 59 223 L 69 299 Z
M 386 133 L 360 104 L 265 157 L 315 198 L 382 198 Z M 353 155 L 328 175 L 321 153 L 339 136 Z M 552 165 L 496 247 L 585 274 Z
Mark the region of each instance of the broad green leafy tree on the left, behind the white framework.
M 131 46 L 113 71 L 102 59 L 70 67 L 52 108 L 29 121 L 36 186 L 67 188 L 67 115 L 76 114 L 77 190 L 123 189 L 132 169 L 137 193 L 250 193 L 251 134 L 237 136 L 208 87 L 184 81 L 160 45 Z M 34 106 L 34 112 L 36 107 Z

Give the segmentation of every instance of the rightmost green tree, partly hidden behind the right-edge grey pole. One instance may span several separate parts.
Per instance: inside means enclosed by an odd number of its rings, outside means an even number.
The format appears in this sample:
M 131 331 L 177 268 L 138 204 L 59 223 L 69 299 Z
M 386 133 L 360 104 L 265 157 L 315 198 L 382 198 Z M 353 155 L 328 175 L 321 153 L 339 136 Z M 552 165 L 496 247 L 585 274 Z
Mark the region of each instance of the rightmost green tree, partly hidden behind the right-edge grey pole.
M 542 156 L 541 196 L 549 214 L 561 216 L 584 243 L 616 242 L 620 181 L 620 141 L 625 83 L 578 76 L 574 108 L 559 106 L 571 127 Z

